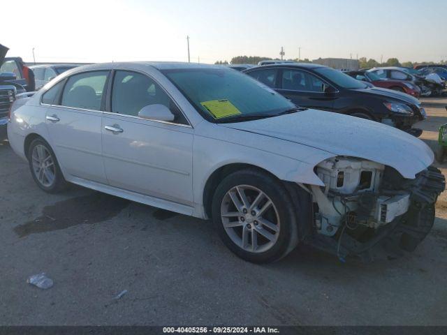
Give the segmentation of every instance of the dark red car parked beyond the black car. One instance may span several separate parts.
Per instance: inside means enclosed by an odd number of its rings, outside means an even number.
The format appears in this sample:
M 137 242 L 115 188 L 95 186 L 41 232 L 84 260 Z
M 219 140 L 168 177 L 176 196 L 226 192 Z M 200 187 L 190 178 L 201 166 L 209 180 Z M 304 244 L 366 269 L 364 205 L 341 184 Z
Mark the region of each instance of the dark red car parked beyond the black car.
M 350 75 L 357 80 L 362 80 L 363 82 L 370 82 L 376 87 L 382 87 L 383 89 L 393 89 L 394 91 L 404 92 L 409 94 L 410 96 L 414 96 L 415 98 L 419 98 L 420 89 L 412 82 L 406 82 L 402 80 L 388 80 L 379 77 L 376 73 L 370 72 L 369 70 L 358 70 L 347 72 L 347 75 Z

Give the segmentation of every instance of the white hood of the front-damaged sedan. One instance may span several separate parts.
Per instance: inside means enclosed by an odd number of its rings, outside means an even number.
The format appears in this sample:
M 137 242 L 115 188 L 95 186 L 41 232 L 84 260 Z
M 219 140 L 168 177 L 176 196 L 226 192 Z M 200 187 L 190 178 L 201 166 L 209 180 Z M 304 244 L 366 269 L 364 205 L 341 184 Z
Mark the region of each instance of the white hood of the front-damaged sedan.
M 408 133 L 379 122 L 321 110 L 219 125 L 304 144 L 334 156 L 364 158 L 395 168 L 409 179 L 434 159 L 427 144 Z

